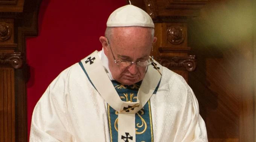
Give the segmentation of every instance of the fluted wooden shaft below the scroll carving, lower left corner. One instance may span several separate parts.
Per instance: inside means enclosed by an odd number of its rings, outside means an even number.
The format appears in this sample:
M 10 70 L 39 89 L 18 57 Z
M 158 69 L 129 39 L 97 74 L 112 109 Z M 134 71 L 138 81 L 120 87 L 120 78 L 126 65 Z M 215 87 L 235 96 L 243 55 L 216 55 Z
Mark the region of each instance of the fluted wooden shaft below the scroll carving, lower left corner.
M 0 142 L 15 142 L 14 69 L 0 67 Z

